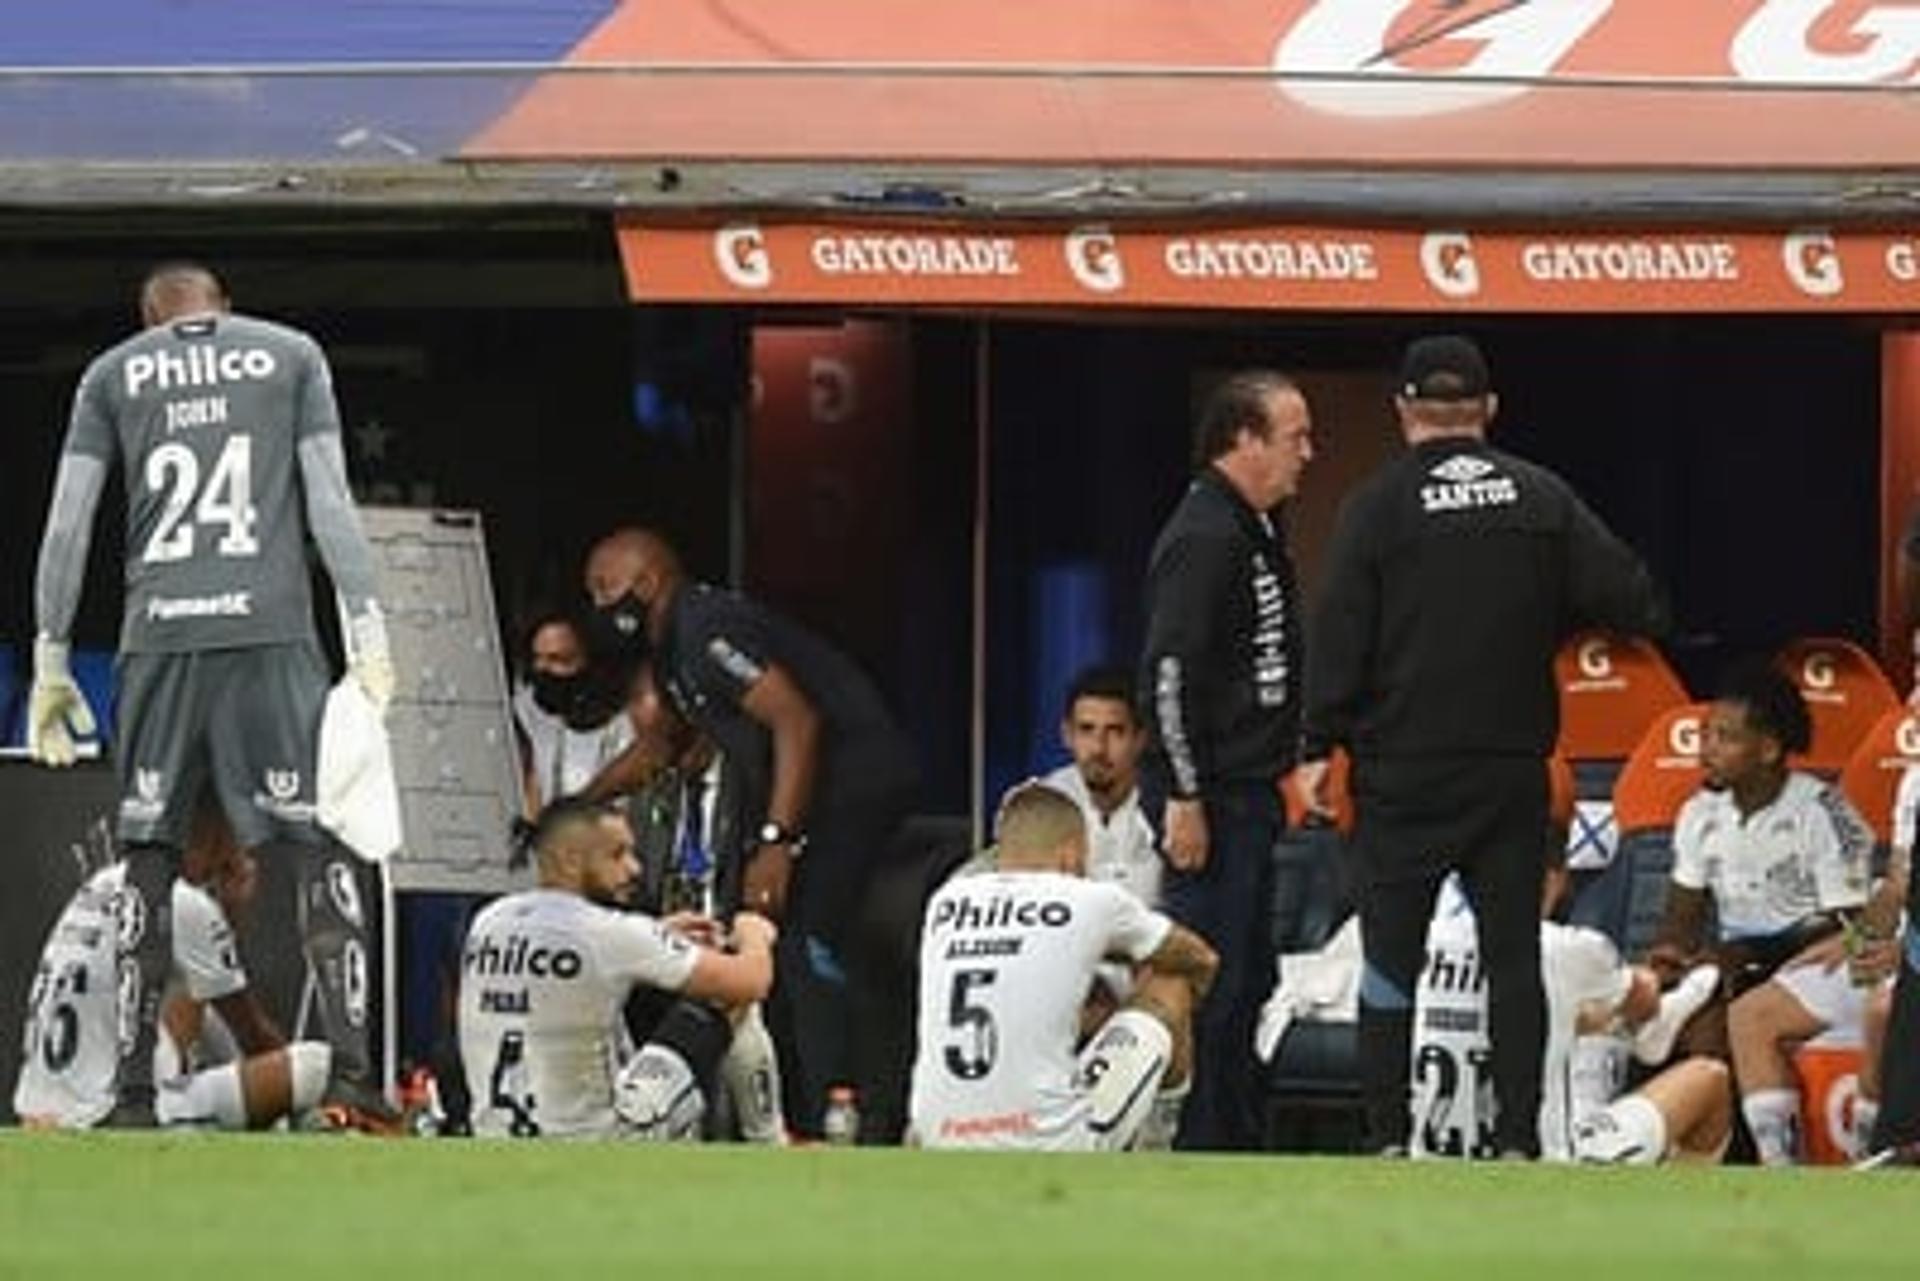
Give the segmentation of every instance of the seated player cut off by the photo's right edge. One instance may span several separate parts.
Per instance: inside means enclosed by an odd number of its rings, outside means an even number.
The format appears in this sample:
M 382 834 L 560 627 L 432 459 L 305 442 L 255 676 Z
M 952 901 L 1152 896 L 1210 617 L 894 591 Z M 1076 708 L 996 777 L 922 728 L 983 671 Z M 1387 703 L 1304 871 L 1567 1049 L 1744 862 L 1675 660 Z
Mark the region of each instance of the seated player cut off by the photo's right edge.
M 1901 778 L 1893 801 L 1893 855 L 1887 874 L 1866 906 L 1847 914 L 1847 928 L 1807 947 L 1770 979 L 1743 993 L 1726 1012 L 1740 1081 L 1740 1110 L 1753 1131 L 1763 1166 L 1791 1166 L 1801 1158 L 1801 1097 L 1793 1051 L 1828 1031 L 1866 1041 L 1868 1006 L 1891 1001 L 1899 970 L 1901 906 L 1912 866 L 1914 805 L 1920 803 L 1920 770 Z M 1885 1001 L 1876 1037 L 1885 1027 Z M 1860 1072 L 1855 1129 L 1872 1133 L 1880 1099 L 1880 1047 L 1866 1045 L 1872 1062 Z M 1864 1147 L 1864 1145 L 1862 1145 Z

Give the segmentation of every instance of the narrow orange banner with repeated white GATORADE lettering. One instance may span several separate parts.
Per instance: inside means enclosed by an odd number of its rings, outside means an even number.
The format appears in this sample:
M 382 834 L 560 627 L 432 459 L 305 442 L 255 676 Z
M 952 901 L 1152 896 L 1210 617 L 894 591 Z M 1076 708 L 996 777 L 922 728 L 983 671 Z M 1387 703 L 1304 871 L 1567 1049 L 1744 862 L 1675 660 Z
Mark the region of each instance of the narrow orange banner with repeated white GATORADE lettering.
M 1920 230 L 728 223 L 618 229 L 636 302 L 1260 311 L 1912 311 Z

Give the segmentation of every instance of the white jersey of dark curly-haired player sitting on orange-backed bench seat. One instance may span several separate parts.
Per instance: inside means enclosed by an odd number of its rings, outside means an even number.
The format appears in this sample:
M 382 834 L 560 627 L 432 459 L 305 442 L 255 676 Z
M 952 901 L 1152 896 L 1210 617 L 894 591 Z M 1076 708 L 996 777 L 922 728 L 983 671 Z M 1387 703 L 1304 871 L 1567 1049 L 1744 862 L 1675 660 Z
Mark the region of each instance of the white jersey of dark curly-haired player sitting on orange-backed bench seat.
M 1720 937 L 1763 937 L 1866 903 L 1872 853 L 1872 832 L 1839 789 L 1793 772 L 1772 805 L 1745 818 L 1730 791 L 1688 797 L 1672 880 L 1713 893 Z

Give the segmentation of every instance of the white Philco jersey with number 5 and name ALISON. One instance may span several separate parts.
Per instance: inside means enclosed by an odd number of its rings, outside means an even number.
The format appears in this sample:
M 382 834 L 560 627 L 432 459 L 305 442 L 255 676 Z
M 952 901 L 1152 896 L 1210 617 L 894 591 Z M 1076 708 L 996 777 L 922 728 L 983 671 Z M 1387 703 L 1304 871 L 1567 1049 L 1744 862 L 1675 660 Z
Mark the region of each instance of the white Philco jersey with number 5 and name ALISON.
M 954 878 L 927 903 L 908 1102 L 924 1147 L 1091 1147 L 1073 1085 L 1081 1003 L 1102 958 L 1146 960 L 1173 922 L 1112 882 Z

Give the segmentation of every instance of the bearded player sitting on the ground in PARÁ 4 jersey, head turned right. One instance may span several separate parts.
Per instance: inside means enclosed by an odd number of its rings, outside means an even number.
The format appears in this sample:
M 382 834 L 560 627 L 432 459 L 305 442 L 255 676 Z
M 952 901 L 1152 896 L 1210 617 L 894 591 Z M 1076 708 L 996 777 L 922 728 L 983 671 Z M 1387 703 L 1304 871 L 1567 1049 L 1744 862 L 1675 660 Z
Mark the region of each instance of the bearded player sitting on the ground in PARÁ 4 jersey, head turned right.
M 634 834 L 597 801 L 549 805 L 534 855 L 540 885 L 488 905 L 467 933 L 459 1037 L 474 1133 L 697 1137 L 732 1020 L 774 981 L 774 924 L 735 914 L 735 951 L 722 951 L 703 916 L 620 910 L 639 878 Z M 684 1001 L 634 1051 L 620 1010 L 639 983 Z

